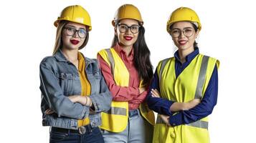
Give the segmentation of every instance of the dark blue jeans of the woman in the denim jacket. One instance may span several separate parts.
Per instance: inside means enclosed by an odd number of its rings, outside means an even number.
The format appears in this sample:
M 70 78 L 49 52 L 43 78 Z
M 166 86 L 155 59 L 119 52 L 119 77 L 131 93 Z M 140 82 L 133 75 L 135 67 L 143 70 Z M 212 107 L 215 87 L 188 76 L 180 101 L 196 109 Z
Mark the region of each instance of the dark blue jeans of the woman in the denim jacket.
M 92 128 L 91 132 L 85 134 L 67 132 L 56 132 L 52 129 L 49 134 L 49 143 L 104 143 L 103 136 L 98 127 Z

